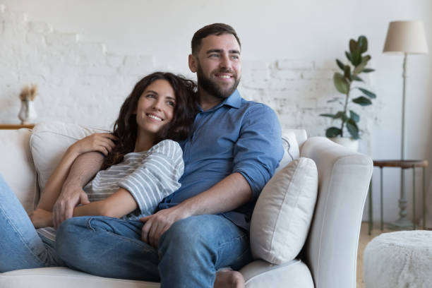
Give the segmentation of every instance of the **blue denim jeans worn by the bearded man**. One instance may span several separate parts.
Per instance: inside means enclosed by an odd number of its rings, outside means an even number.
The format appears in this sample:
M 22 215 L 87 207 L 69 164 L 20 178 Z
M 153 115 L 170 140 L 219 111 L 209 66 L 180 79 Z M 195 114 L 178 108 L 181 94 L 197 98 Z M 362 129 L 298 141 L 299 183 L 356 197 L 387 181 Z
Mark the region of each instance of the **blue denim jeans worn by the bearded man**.
M 175 222 L 156 250 L 141 241 L 139 221 L 74 217 L 61 224 L 56 251 L 66 265 L 103 277 L 161 281 L 162 288 L 213 287 L 219 268 L 251 260 L 248 234 L 220 215 Z

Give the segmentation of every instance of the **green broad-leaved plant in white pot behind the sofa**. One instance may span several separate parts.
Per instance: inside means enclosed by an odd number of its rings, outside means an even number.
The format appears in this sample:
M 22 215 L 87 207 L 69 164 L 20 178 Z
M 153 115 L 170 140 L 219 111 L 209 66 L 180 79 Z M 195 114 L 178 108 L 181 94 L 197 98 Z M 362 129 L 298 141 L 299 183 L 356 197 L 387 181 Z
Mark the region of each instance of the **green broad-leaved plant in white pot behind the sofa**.
M 332 126 L 325 130 L 325 136 L 353 150 L 357 150 L 359 145 L 358 139 L 360 136 L 357 124 L 360 121 L 360 116 L 350 109 L 349 104 L 353 102 L 361 106 L 368 106 L 372 104 L 371 99 L 376 98 L 375 93 L 369 90 L 357 86 L 353 87 L 354 81 L 364 82 L 359 77 L 361 73 L 375 71 L 374 69 L 366 68 L 368 61 L 371 60 L 370 55 L 364 55 L 367 50 L 368 40 L 365 36 L 360 36 L 357 41 L 354 39 L 349 40 L 349 52 L 345 52 L 349 62 L 348 64 L 343 64 L 342 61 L 336 59 L 336 64 L 342 70 L 342 73 L 336 72 L 333 76 L 333 83 L 335 83 L 337 91 L 344 95 L 342 97 L 344 101 L 341 101 L 341 97 L 328 101 L 339 102 L 342 105 L 342 110 L 336 112 L 336 114 L 320 114 L 320 116 L 330 117 L 341 122 L 339 127 Z M 360 91 L 361 95 L 350 101 L 352 90 Z M 346 137 L 346 131 L 350 137 Z

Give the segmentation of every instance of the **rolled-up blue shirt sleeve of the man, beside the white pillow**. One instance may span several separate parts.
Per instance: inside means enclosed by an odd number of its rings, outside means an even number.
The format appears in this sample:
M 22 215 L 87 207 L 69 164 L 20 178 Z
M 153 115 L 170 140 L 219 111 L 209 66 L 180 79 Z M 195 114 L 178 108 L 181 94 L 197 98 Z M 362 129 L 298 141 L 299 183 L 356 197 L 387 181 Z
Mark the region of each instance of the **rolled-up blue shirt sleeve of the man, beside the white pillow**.
M 258 198 L 273 176 L 283 154 L 282 133 L 276 113 L 260 103 L 249 108 L 234 147 L 233 173 L 241 173 L 248 181 L 252 200 Z

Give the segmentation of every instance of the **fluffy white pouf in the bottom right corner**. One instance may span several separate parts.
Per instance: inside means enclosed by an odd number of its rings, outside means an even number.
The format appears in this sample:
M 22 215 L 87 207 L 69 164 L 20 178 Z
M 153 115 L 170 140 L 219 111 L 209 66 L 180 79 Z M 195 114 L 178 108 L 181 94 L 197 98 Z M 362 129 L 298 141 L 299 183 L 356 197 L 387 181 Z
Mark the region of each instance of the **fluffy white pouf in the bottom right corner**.
M 366 288 L 432 287 L 432 232 L 401 231 L 372 239 L 364 251 Z

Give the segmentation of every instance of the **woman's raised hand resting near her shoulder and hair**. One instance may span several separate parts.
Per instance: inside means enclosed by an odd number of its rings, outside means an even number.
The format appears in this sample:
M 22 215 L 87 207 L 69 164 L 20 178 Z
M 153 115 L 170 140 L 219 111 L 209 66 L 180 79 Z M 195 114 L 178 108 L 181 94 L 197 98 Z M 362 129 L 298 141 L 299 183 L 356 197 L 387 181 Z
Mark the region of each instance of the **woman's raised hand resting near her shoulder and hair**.
M 69 149 L 77 155 L 85 152 L 99 151 L 107 156 L 112 151 L 112 148 L 115 147 L 114 141 L 116 140 L 116 136 L 110 133 L 95 133 L 73 143 Z

